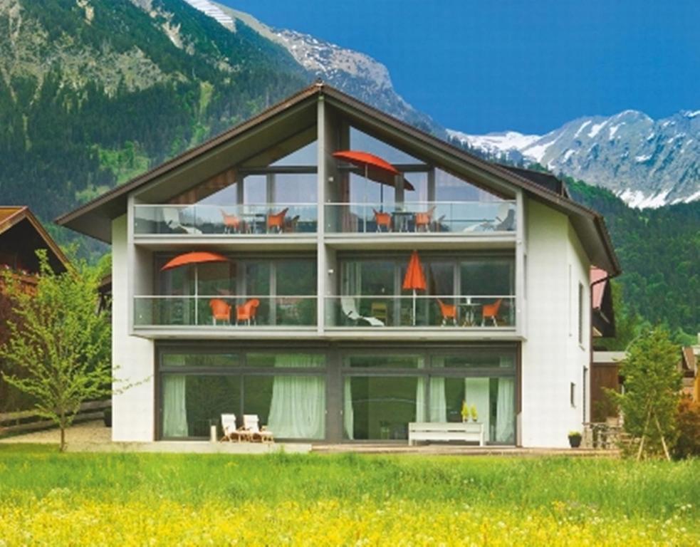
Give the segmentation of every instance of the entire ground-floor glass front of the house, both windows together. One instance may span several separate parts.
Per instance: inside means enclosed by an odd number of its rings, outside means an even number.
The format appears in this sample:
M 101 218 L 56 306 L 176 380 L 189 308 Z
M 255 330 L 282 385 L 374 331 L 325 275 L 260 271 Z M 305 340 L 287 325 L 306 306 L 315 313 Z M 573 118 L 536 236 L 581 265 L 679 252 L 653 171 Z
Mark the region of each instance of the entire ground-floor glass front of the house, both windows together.
M 277 439 L 399 441 L 410 422 L 461 421 L 466 403 L 487 442 L 514 444 L 517 351 L 163 348 L 161 437 L 204 438 L 221 414 L 254 414 Z

